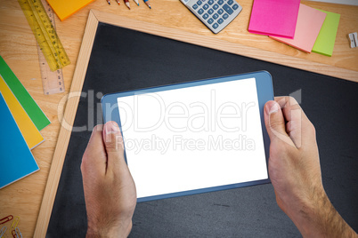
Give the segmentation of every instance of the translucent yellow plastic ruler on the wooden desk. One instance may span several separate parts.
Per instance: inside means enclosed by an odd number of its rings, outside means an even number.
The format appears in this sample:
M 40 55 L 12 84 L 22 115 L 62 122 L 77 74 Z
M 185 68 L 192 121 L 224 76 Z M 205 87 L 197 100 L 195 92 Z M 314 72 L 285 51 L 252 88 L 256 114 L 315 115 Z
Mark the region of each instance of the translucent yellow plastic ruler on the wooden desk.
M 18 0 L 18 2 L 51 70 L 55 71 L 69 65 L 69 57 L 41 1 Z

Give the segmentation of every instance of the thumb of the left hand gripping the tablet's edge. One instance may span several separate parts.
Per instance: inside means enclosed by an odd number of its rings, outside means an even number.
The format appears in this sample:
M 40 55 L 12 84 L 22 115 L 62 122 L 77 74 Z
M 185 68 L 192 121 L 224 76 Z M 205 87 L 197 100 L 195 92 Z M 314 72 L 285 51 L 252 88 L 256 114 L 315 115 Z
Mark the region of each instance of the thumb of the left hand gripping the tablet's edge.
M 124 159 L 124 144 L 118 124 L 108 122 L 103 127 L 104 147 L 107 152 L 108 171 L 127 168 Z

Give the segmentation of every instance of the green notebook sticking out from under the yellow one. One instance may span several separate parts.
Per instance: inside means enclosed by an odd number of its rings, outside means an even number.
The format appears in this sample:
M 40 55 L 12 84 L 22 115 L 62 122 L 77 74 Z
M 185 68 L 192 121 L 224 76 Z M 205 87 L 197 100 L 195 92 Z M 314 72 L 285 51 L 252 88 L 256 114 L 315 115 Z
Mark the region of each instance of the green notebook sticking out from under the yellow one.
M 0 75 L 3 76 L 5 83 L 12 90 L 16 99 L 19 100 L 21 106 L 25 109 L 32 122 L 36 125 L 37 130 L 41 131 L 51 122 L 47 116 L 38 107 L 36 101 L 32 99 L 31 95 L 20 83 L 16 75 L 13 74 L 12 69 L 6 64 L 4 59 L 0 56 Z

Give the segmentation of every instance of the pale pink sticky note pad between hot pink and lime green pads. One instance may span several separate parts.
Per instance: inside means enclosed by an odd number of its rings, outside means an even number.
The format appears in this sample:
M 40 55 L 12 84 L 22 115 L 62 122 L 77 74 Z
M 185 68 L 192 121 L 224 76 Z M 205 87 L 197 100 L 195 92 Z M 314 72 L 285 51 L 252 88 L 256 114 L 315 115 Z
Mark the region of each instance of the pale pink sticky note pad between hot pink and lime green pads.
M 281 43 L 289 44 L 301 51 L 310 53 L 326 16 L 327 13 L 325 12 L 300 4 L 295 37 L 293 39 L 277 36 L 270 37 Z

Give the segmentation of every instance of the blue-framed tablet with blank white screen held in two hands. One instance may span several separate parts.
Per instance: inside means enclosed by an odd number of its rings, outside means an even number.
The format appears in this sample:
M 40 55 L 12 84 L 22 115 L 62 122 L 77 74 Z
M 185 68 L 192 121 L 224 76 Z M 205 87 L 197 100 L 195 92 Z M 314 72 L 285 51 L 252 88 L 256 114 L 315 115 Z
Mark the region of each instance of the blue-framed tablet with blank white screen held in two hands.
M 102 97 L 104 122 L 118 123 L 137 201 L 270 182 L 264 104 L 266 71 Z

